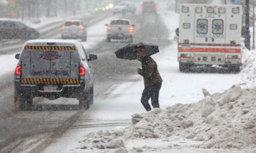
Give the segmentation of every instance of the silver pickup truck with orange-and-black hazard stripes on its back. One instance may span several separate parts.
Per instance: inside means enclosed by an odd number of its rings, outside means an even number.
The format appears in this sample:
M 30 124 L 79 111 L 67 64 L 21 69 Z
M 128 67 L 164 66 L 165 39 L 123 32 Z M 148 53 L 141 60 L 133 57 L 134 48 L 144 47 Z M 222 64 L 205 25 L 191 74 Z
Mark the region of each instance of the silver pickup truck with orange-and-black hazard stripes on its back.
M 76 98 L 80 108 L 93 104 L 93 74 L 89 54 L 79 41 L 37 39 L 27 41 L 15 70 L 15 107 L 33 107 L 33 97 L 50 100 Z

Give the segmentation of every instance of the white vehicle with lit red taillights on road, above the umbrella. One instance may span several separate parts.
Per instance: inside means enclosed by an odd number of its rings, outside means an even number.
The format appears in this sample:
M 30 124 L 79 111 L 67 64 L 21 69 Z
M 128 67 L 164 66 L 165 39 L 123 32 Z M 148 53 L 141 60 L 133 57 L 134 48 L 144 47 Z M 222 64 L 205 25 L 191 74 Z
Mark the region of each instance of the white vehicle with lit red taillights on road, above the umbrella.
M 118 19 L 111 20 L 110 24 L 105 24 L 107 28 L 106 42 L 111 42 L 111 39 L 119 41 L 133 42 L 133 27 L 130 20 Z

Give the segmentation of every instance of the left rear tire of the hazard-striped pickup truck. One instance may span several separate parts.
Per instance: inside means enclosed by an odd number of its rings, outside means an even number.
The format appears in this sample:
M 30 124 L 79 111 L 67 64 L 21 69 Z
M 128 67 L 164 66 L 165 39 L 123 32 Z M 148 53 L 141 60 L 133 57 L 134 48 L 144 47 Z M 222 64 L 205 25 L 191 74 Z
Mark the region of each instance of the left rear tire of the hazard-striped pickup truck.
M 16 111 L 32 110 L 33 97 L 31 97 L 30 94 L 25 94 L 15 90 L 14 104 Z

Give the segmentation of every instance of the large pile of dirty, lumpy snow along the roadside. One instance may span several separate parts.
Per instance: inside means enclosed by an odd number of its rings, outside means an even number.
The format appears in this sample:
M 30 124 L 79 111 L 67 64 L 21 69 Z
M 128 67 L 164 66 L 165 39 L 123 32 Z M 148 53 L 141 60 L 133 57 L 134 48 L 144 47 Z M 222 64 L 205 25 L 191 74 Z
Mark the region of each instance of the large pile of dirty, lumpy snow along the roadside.
M 132 125 L 109 132 L 88 133 L 86 148 L 118 148 L 126 152 L 126 143 L 136 139 L 181 137 L 201 141 L 195 148 L 256 147 L 256 88 L 232 86 L 224 93 L 211 95 L 203 89 L 204 99 L 193 104 L 175 104 L 165 110 L 132 115 Z

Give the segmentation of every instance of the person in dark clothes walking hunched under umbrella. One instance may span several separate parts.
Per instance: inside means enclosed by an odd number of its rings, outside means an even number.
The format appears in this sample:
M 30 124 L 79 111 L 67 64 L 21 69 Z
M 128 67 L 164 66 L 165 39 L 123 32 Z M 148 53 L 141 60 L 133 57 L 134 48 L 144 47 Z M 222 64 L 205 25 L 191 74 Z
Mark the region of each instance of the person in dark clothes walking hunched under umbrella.
M 157 63 L 145 53 L 143 46 L 136 46 L 134 51 L 137 53 L 138 59 L 141 61 L 141 68 L 137 68 L 138 74 L 144 79 L 144 90 L 141 96 L 141 104 L 146 111 L 151 111 L 148 100 L 151 99 L 153 108 L 159 108 L 159 90 L 162 86 L 162 78 L 158 72 Z

